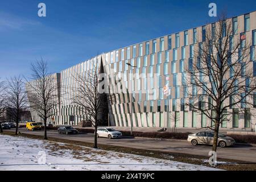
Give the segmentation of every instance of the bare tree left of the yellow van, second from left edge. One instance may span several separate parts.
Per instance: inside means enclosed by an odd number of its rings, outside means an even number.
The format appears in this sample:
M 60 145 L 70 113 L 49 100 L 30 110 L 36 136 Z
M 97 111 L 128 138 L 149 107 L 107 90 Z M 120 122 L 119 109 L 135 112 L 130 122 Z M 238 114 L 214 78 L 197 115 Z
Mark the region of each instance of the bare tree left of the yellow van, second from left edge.
M 11 77 L 7 80 L 6 89 L 7 107 L 9 107 L 9 114 L 16 122 L 15 134 L 18 135 L 18 125 L 22 111 L 27 108 L 27 94 L 22 77 Z

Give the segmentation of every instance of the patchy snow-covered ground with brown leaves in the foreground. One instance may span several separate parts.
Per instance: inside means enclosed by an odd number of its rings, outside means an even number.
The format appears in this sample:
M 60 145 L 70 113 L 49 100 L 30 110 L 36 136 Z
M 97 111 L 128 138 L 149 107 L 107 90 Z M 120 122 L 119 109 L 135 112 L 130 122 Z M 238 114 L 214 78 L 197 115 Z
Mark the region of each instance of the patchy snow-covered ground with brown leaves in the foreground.
M 45 162 L 43 154 L 46 154 Z M 0 135 L 0 170 L 191 171 L 217 169 L 72 144 Z

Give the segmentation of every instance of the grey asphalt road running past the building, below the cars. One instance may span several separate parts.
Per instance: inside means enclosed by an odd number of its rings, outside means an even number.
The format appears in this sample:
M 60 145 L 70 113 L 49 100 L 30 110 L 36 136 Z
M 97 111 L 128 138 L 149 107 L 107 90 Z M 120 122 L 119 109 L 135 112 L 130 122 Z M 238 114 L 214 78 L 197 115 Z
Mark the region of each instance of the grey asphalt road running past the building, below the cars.
M 19 129 L 22 133 L 43 135 L 43 131 L 26 131 Z M 48 137 L 55 137 L 68 140 L 76 140 L 82 142 L 93 143 L 93 134 L 65 135 L 57 134 L 56 130 L 49 130 Z M 142 148 L 147 150 L 159 150 L 168 152 L 179 152 L 184 154 L 208 156 L 211 146 L 192 146 L 186 140 L 158 140 L 147 138 L 130 138 L 123 137 L 121 139 L 99 138 L 98 143 L 109 144 L 113 146 Z M 218 148 L 218 158 L 242 160 L 245 162 L 256 163 L 256 146 L 235 145 L 233 147 Z

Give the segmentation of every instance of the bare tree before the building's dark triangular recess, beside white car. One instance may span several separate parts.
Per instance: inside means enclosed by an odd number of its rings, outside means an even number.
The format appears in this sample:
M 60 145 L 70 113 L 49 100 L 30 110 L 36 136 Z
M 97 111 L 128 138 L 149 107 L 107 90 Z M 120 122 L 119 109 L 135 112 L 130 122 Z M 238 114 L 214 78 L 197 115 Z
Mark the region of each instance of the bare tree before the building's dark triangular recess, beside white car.
M 72 76 L 76 86 L 72 88 L 71 96 L 72 104 L 77 106 L 82 115 L 85 115 L 86 121 L 94 126 L 94 148 L 98 148 L 97 128 L 105 117 L 104 111 L 108 110 L 105 93 L 98 92 L 100 82 L 103 81 L 100 76 L 103 70 L 100 67 L 102 59 L 96 62 L 93 63 L 93 68 L 84 74 L 78 73 Z

